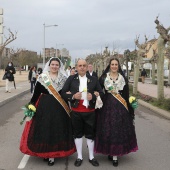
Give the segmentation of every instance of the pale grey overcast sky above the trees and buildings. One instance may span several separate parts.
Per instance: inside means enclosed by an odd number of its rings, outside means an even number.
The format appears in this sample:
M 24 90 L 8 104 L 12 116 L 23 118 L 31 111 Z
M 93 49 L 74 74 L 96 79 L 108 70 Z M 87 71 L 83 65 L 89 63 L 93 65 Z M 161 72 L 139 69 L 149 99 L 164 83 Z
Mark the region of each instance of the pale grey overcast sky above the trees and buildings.
M 134 39 L 157 38 L 154 20 L 170 26 L 170 0 L 0 0 L 4 26 L 17 39 L 8 47 L 42 53 L 46 48 L 67 48 L 72 58 L 99 53 L 106 45 L 123 53 L 134 50 Z M 7 30 L 4 34 L 7 36 Z M 64 45 L 61 45 L 64 44 Z

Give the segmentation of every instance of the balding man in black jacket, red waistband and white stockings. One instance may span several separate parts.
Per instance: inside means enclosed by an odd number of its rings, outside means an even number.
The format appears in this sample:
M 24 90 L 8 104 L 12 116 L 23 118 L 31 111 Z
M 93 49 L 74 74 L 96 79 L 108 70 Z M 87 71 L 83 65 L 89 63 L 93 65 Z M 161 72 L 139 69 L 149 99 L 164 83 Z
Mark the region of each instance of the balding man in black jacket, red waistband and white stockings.
M 101 97 L 104 94 L 98 79 L 86 75 L 87 63 L 84 59 L 77 61 L 76 69 L 78 74 L 68 77 L 61 93 L 63 99 L 70 102 L 72 110 L 71 121 L 78 154 L 74 165 L 78 167 L 82 164 L 82 137 L 85 136 L 89 150 L 89 162 L 93 166 L 99 166 L 93 153 L 96 104 L 96 95 L 94 92 L 98 92 Z

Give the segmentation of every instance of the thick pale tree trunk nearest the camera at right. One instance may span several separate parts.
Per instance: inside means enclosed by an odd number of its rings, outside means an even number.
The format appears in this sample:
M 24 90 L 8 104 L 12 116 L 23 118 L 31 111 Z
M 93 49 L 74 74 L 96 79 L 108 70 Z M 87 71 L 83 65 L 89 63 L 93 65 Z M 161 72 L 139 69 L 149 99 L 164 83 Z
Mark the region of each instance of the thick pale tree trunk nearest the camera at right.
M 164 98 L 164 50 L 166 42 L 158 38 L 158 60 L 157 60 L 157 95 L 158 99 Z

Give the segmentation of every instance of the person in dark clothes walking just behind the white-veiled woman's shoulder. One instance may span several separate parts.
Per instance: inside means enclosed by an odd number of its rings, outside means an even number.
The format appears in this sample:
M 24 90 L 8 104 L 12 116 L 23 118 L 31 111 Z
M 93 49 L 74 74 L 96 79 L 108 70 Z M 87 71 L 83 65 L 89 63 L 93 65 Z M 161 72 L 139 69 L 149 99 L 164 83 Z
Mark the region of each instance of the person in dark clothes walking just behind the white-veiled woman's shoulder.
M 29 74 L 28 74 L 28 80 L 31 84 L 31 88 L 30 88 L 31 94 L 33 93 L 34 88 L 35 88 L 36 77 L 37 77 L 37 73 L 36 73 L 36 68 L 34 66 L 34 67 L 31 67 Z

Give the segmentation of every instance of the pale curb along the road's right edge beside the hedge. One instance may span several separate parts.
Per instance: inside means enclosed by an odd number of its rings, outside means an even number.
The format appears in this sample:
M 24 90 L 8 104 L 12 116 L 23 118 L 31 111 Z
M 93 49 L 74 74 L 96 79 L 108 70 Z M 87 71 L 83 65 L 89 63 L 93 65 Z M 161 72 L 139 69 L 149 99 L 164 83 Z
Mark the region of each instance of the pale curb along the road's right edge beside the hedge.
M 161 115 L 162 117 L 166 118 L 166 119 L 169 119 L 170 120 L 170 112 L 166 111 L 166 110 L 162 110 L 156 106 L 152 106 L 151 104 L 147 103 L 147 102 L 144 102 L 143 100 L 140 100 L 138 99 L 138 102 L 140 105 L 150 109 L 150 110 L 153 110 L 155 113 Z

